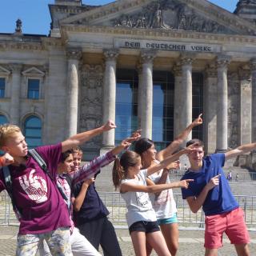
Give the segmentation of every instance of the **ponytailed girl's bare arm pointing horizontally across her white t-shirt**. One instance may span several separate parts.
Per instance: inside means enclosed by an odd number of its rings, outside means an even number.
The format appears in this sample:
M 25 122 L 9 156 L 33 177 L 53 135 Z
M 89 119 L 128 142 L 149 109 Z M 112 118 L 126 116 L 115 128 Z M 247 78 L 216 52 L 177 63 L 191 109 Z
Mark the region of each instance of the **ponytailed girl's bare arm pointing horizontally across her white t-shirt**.
M 159 184 L 159 185 L 150 185 L 150 186 L 143 186 L 143 185 L 136 185 L 132 182 L 122 183 L 120 186 L 120 192 L 126 193 L 128 191 L 133 192 L 146 192 L 146 193 L 157 193 L 161 192 L 162 190 L 168 190 L 175 187 L 183 187 L 187 188 L 189 186 L 189 182 L 192 182 L 192 179 L 184 179 L 178 182 L 171 182 L 170 184 Z

